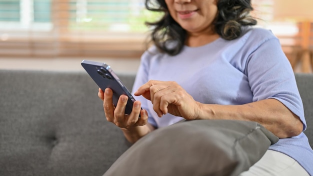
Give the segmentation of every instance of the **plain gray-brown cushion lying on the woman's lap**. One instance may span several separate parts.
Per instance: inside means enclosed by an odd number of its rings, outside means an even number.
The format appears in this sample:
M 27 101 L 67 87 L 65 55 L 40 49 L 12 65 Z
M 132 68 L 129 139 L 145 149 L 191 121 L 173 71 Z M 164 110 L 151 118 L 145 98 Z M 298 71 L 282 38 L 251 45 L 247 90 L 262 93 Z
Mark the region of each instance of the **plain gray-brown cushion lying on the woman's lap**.
M 139 139 L 103 176 L 238 175 L 277 141 L 251 121 L 178 122 Z

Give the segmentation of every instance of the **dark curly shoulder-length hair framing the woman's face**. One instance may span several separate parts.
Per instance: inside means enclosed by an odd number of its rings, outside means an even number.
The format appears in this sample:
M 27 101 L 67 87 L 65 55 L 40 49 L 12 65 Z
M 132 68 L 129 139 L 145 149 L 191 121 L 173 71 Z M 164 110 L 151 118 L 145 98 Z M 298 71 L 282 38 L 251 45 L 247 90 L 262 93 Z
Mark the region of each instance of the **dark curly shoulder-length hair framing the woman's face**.
M 170 16 L 164 0 L 145 0 L 145 7 L 164 13 L 158 21 L 145 22 L 152 27 L 151 41 L 161 52 L 178 54 L 185 43 L 186 30 Z M 256 24 L 249 14 L 253 10 L 251 0 L 217 0 L 217 10 L 214 30 L 224 39 L 235 39 L 241 35 L 242 26 Z

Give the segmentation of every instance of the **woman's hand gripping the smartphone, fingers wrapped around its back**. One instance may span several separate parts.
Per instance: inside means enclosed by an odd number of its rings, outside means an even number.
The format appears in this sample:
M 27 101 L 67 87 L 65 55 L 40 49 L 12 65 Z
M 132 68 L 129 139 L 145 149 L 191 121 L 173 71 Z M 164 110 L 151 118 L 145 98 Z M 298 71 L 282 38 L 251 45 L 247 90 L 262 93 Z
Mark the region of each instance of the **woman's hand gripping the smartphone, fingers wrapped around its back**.
M 113 91 L 110 88 L 106 88 L 104 92 L 99 88 L 98 96 L 103 100 L 103 109 L 107 121 L 126 129 L 147 124 L 148 115 L 146 110 L 140 108 L 140 101 L 133 102 L 132 111 L 127 115 L 124 114 L 124 111 L 128 96 L 120 95 L 116 107 L 112 102 Z

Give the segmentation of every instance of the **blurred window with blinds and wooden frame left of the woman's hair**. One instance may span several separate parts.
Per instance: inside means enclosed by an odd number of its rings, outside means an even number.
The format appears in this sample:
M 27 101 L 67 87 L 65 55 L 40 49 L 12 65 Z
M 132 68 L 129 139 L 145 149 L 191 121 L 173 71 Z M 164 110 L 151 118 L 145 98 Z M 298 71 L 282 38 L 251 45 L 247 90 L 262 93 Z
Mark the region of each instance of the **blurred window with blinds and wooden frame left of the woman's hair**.
M 0 56 L 139 56 L 144 0 L 0 0 Z

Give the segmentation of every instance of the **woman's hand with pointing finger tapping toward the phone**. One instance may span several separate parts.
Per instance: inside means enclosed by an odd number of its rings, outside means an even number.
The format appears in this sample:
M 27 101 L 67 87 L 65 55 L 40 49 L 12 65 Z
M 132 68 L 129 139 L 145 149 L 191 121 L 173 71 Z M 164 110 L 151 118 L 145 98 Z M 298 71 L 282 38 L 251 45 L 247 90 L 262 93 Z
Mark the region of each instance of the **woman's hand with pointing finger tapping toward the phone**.
M 199 102 L 174 81 L 149 80 L 140 86 L 134 95 L 142 95 L 151 100 L 153 110 L 159 117 L 166 113 L 187 120 L 196 119 L 198 116 Z

